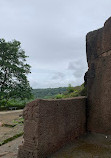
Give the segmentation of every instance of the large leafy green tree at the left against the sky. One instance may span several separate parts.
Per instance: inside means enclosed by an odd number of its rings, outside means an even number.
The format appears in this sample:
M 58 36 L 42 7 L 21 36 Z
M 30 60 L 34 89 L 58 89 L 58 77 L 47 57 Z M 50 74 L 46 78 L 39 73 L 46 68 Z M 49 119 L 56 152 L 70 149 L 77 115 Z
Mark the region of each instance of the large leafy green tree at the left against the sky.
M 31 98 L 31 87 L 27 80 L 30 65 L 21 49 L 20 42 L 0 39 L 0 100 L 9 98 Z

